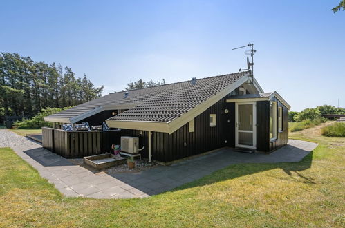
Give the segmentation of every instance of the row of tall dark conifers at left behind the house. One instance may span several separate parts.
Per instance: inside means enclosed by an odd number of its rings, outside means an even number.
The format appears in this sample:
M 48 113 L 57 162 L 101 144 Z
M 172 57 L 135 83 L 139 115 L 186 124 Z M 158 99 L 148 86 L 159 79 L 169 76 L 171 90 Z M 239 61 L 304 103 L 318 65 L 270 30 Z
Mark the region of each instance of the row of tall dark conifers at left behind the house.
M 69 67 L 33 61 L 17 53 L 0 53 L 0 118 L 32 116 L 44 108 L 64 108 L 101 96 L 84 74 L 75 77 Z

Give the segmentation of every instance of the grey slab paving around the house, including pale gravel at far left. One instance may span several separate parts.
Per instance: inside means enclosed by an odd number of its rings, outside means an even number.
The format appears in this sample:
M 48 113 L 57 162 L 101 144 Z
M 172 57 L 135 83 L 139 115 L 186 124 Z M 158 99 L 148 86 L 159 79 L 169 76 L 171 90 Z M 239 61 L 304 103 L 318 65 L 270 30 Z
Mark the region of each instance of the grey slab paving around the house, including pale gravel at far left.
M 0 136 L 0 147 L 10 146 L 65 196 L 90 198 L 147 197 L 198 180 L 230 164 L 299 162 L 317 146 L 313 142 L 289 140 L 288 145 L 270 154 L 239 153 L 232 149 L 221 149 L 171 166 L 153 167 L 138 173 L 109 175 L 102 171 L 88 171 L 11 131 L 0 130 Z M 11 144 L 8 140 L 20 140 L 21 144 Z

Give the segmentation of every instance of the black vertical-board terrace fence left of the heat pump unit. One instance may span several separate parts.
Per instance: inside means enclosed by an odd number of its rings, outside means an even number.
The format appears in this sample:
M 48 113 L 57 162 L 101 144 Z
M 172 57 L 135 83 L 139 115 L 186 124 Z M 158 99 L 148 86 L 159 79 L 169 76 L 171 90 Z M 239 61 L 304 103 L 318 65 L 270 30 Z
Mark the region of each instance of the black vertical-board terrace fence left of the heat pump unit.
M 109 153 L 111 144 L 120 144 L 121 131 L 63 131 L 42 128 L 43 147 L 64 158 L 83 158 Z

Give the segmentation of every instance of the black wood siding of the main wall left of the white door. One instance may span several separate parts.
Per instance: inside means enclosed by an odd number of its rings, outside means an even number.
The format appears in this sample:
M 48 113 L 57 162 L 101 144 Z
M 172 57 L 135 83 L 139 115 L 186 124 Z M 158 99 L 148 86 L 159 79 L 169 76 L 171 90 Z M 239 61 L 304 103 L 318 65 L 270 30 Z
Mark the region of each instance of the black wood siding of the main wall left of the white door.
M 234 104 L 226 103 L 232 95 L 238 95 L 239 90 L 232 91 L 219 102 L 194 118 L 194 132 L 189 132 L 189 123 L 174 131 L 174 133 L 151 132 L 152 160 L 171 162 L 199 153 L 205 153 L 223 146 L 234 145 Z M 229 113 L 225 114 L 225 108 Z M 216 126 L 209 126 L 209 115 L 216 114 Z M 227 122 L 229 120 L 229 122 Z M 140 135 L 141 133 L 141 135 Z M 139 137 L 143 158 L 148 158 L 148 131 L 122 129 L 122 135 Z M 232 138 L 229 140 L 229 138 Z M 225 140 L 227 143 L 225 143 Z

